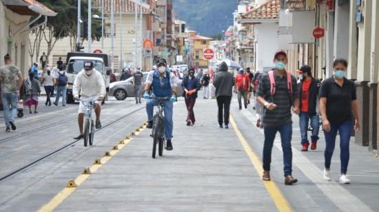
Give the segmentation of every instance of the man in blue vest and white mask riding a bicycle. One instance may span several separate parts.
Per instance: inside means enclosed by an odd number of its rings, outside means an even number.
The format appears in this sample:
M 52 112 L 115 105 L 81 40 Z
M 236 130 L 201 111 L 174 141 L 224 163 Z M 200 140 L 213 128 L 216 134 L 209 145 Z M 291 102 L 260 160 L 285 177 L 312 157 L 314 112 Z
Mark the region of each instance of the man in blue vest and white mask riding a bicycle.
M 143 94 L 143 98 L 150 99 L 150 88 L 152 89 L 152 95 L 160 98 L 170 98 L 170 100 L 161 100 L 163 111 L 165 112 L 163 123 L 165 127 L 165 138 L 167 140 L 166 149 L 170 151 L 173 149 L 171 142 L 172 129 L 174 127 L 172 122 L 172 103 L 176 101 L 176 76 L 172 72 L 167 71 L 167 63 L 165 59 L 160 59 L 157 62 L 156 67 L 158 67 L 158 70 L 150 71 L 149 74 L 147 74 L 145 94 Z M 154 106 L 156 105 L 158 105 L 157 99 L 147 100 L 146 112 L 149 120 L 147 128 L 149 129 L 152 129 L 153 126 L 153 112 Z

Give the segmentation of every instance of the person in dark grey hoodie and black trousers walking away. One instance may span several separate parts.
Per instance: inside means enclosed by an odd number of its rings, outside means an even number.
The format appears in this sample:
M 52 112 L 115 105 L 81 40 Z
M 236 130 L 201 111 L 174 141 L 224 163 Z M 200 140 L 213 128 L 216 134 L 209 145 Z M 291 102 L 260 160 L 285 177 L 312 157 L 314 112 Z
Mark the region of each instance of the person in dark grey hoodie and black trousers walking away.
M 214 76 L 213 85 L 216 87 L 216 99 L 218 105 L 218 125 L 223 128 L 225 123 L 225 129 L 229 128 L 229 110 L 230 102 L 232 100 L 232 89 L 234 86 L 234 77 L 227 71 L 227 64 L 221 63 L 216 76 Z

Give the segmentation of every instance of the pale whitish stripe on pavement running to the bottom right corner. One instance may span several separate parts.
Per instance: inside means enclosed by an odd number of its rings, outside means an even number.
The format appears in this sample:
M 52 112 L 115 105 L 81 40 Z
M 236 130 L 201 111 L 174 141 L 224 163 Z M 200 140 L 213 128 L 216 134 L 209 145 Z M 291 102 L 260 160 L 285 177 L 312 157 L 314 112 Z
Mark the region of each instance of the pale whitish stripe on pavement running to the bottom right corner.
M 247 118 L 255 126 L 256 117 L 247 110 L 243 110 L 243 116 Z M 263 129 L 258 129 L 261 134 L 264 134 Z M 274 142 L 276 148 L 282 151 L 280 139 L 276 139 Z M 319 169 L 313 162 L 311 162 L 306 156 L 303 155 L 298 149 L 292 147 L 292 164 L 298 167 L 304 175 L 313 182 L 322 193 L 324 193 L 331 202 L 334 202 L 341 211 L 372 211 L 369 206 L 363 203 L 356 196 L 352 195 L 344 187 L 342 187 L 336 181 L 326 182 L 322 179 L 322 170 Z

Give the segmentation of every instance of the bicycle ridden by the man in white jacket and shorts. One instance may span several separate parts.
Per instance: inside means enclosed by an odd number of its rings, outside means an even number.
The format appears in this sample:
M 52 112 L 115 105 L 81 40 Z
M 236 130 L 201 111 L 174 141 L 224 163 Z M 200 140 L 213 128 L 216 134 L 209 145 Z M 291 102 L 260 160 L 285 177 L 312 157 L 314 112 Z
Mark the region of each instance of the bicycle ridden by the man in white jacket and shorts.
M 88 142 L 90 142 L 91 146 L 94 142 L 95 125 L 94 119 L 92 118 L 92 108 L 98 99 L 99 96 L 92 96 L 89 98 L 81 99 L 81 103 L 83 103 L 84 107 L 86 108 L 84 123 L 84 147 L 87 147 Z

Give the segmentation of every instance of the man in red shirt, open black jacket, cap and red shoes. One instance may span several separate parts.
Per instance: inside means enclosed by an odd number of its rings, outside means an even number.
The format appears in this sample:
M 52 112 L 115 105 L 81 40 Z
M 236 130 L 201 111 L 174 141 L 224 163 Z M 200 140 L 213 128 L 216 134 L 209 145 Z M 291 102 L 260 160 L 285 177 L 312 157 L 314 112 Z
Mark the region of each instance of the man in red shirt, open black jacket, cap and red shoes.
M 318 116 L 318 92 L 320 81 L 312 77 L 311 67 L 303 65 L 298 71 L 300 78 L 299 99 L 300 99 L 300 132 L 301 132 L 301 151 L 308 151 L 309 141 L 307 138 L 308 123 L 311 120 L 312 136 L 311 149 L 316 149 L 318 141 L 318 130 L 320 118 Z

